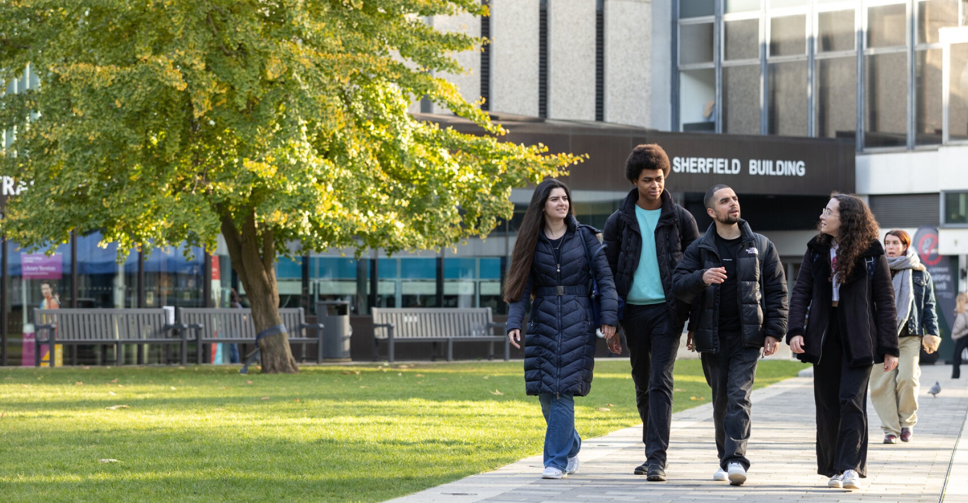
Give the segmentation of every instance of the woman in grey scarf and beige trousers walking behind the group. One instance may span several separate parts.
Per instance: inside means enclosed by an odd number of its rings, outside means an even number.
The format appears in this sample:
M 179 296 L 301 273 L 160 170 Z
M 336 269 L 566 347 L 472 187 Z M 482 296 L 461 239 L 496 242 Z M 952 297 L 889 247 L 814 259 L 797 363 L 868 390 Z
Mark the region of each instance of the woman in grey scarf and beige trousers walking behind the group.
M 900 229 L 884 236 L 897 310 L 897 369 L 870 376 L 870 401 L 881 418 L 884 443 L 910 442 L 918 423 L 918 378 L 921 347 L 938 349 L 938 315 L 934 311 L 934 282 L 911 248 L 911 235 Z

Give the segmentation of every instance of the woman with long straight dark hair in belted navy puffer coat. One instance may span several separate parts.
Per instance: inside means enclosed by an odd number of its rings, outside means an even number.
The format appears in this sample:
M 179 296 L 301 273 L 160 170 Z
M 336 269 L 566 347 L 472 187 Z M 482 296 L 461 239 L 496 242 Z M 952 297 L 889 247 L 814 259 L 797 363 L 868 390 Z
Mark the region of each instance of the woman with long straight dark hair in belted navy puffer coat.
M 537 395 L 547 425 L 545 479 L 578 470 L 582 437 L 575 430 L 574 397 L 589 394 L 595 363 L 592 274 L 601 294 L 600 328 L 606 339 L 615 337 L 619 322 L 619 297 L 597 232 L 575 219 L 567 186 L 554 179 L 541 182 L 518 229 L 505 281 L 507 337 L 514 347 L 521 347 L 525 308 L 533 298 L 525 337 L 525 391 Z

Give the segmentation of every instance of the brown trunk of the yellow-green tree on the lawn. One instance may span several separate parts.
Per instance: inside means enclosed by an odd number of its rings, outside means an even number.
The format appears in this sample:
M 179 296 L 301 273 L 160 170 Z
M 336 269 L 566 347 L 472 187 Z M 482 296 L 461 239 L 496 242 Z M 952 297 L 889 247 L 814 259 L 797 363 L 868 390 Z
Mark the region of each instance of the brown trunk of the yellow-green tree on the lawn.
M 226 238 L 232 269 L 239 275 L 252 307 L 256 333 L 282 325 L 279 315 L 279 286 L 276 282 L 276 248 L 272 230 L 259 229 L 255 213 L 250 210 L 240 233 L 230 216 L 223 214 L 222 234 Z M 262 353 L 262 373 L 296 373 L 299 368 L 292 357 L 289 338 L 284 331 L 258 340 Z

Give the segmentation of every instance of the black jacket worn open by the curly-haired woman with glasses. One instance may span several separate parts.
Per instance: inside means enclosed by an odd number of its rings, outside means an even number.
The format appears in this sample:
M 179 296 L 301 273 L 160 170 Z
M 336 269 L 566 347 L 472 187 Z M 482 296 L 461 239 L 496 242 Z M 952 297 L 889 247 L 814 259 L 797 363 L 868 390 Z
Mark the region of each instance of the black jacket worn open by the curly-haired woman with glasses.
M 874 274 L 870 279 L 867 257 L 874 258 Z M 786 342 L 789 344 L 795 336 L 803 336 L 803 352 L 797 355 L 802 362 L 815 364 L 823 356 L 821 349 L 831 321 L 833 299 L 830 278 L 831 247 L 815 237 L 806 245 L 790 299 L 790 331 Z M 879 241 L 871 241 L 857 258 L 850 278 L 840 285 L 837 306 L 843 314 L 840 337 L 847 341 L 851 367 L 883 363 L 886 354 L 898 356 L 894 287 L 888 257 Z

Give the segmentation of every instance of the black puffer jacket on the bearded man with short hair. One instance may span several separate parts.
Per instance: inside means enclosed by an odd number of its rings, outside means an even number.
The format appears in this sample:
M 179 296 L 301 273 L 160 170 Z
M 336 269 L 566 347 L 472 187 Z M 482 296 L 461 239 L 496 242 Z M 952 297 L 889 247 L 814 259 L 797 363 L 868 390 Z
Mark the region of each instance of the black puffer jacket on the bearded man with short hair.
M 716 224 L 711 223 L 706 235 L 697 239 L 685 250 L 676 267 L 673 289 L 683 303 L 699 298 L 699 320 L 692 342 L 701 352 L 719 351 L 719 306 L 723 302 L 740 304 L 742 345 L 763 347 L 767 336 L 782 340 L 786 333 L 787 286 L 786 275 L 779 254 L 770 240 L 766 242 L 763 256 L 756 248 L 757 236 L 746 221 L 740 221 L 741 251 L 737 254 L 738 299 L 722 299 L 719 284 L 707 285 L 703 273 L 720 263 L 716 248 Z M 702 260 L 706 251 L 706 262 Z M 762 289 L 760 285 L 762 284 Z M 692 325 L 692 321 L 689 321 Z

